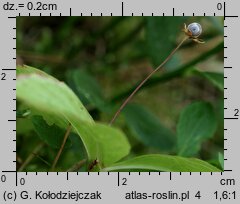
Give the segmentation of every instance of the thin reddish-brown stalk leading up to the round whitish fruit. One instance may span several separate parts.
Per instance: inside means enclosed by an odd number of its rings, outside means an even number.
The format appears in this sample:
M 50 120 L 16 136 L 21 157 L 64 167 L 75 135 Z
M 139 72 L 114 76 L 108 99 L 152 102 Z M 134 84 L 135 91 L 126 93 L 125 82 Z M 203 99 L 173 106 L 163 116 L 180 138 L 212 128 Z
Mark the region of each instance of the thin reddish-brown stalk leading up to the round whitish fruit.
M 168 57 L 156 68 L 154 69 L 135 89 L 134 91 L 128 96 L 128 98 L 123 102 L 123 104 L 120 106 L 120 108 L 117 110 L 115 115 L 113 116 L 112 120 L 110 121 L 109 125 L 112 125 L 118 115 L 121 113 L 123 108 L 128 104 L 128 102 L 132 99 L 132 97 L 137 93 L 137 91 L 145 84 L 145 82 L 153 75 L 155 74 L 160 68 L 163 67 L 170 59 L 171 57 L 175 54 L 175 52 L 182 46 L 182 44 L 189 39 L 189 37 L 185 36 L 183 40 L 178 44 L 178 46 L 168 55 Z

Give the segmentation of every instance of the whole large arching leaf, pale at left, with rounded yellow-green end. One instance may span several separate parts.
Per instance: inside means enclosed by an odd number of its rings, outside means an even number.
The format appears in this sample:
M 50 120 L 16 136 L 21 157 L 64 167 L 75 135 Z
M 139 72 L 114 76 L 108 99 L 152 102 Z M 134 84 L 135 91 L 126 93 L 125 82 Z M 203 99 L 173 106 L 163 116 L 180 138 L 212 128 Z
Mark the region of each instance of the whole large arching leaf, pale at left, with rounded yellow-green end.
M 78 97 L 57 79 L 20 74 L 17 77 L 17 99 L 60 127 L 65 124 L 66 128 L 70 123 L 81 137 L 90 161 L 99 159 L 103 165 L 109 165 L 129 153 L 125 135 L 112 127 L 94 123 Z

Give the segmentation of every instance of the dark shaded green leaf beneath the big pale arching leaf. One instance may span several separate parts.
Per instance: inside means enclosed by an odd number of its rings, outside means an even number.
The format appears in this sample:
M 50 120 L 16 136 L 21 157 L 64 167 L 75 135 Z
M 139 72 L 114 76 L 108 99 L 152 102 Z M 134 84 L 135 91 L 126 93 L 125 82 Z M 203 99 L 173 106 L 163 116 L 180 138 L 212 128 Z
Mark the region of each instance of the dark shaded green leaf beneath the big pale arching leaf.
M 49 126 L 41 116 L 33 116 L 31 118 L 34 130 L 39 138 L 50 147 L 59 149 L 61 147 L 66 130 L 56 125 Z M 71 146 L 70 139 L 67 139 L 64 148 Z

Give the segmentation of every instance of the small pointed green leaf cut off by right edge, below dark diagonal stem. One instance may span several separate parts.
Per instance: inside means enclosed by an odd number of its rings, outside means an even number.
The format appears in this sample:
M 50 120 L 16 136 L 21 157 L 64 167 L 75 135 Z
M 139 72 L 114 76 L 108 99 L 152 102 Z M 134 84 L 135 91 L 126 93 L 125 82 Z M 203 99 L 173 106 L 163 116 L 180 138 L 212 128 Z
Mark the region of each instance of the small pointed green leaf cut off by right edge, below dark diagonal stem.
M 217 72 L 199 72 L 201 76 L 209 80 L 220 91 L 224 90 L 224 75 Z

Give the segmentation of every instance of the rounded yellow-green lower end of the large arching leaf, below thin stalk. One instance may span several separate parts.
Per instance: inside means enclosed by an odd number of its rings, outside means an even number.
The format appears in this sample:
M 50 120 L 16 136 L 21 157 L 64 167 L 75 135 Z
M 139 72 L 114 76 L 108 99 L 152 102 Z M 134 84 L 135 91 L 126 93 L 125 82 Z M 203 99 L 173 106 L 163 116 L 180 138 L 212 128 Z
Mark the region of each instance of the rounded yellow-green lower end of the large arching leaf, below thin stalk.
M 98 159 L 102 166 L 108 166 L 129 154 L 130 144 L 118 129 L 99 123 L 89 124 L 81 121 L 71 123 L 88 144 L 86 150 L 88 154 L 91 153 L 91 160 Z

